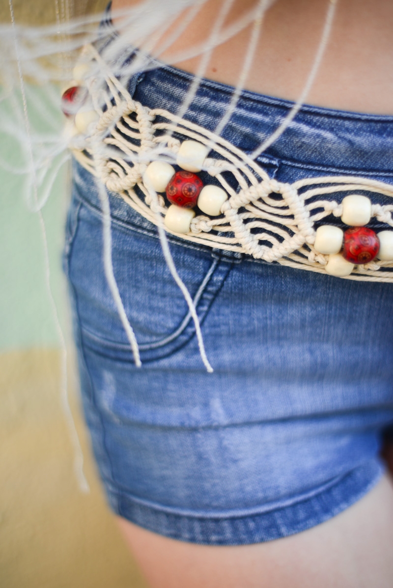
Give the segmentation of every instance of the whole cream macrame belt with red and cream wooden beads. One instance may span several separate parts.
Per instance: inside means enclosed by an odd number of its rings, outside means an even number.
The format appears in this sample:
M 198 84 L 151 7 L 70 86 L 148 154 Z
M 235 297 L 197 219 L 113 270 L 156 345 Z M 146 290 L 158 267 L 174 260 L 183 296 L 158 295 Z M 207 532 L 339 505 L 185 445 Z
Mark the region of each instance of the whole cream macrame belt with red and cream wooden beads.
M 186 240 L 266 262 L 393 282 L 393 185 L 353 176 L 278 182 L 215 133 L 135 102 L 110 73 L 98 83 L 94 66 L 108 72 L 87 46 L 63 95 L 70 148 L 146 219 Z M 202 183 L 202 170 L 211 184 Z M 384 203 L 372 203 L 367 194 Z M 331 215 L 347 230 L 320 224 Z M 386 225 L 378 233 L 367 226 L 374 217 Z

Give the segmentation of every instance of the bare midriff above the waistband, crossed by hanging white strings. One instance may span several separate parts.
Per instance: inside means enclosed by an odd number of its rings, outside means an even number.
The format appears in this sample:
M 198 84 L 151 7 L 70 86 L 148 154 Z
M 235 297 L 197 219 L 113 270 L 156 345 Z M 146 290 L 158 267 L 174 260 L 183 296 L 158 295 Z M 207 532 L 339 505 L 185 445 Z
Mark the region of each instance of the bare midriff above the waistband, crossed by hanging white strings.
M 165 1 L 165 0 L 163 0 Z M 170 1 L 170 0 L 168 0 Z M 116 10 L 139 4 L 113 0 Z M 255 0 L 234 2 L 225 19 L 227 28 L 255 6 Z M 296 101 L 311 70 L 324 28 L 328 0 L 276 0 L 265 13 L 257 49 L 244 87 Z M 195 74 L 201 55 L 182 59 L 193 46 L 208 42 L 222 0 L 208 0 L 172 45 L 161 51 L 181 14 L 152 49 L 161 61 Z M 115 24 L 119 30 L 121 19 Z M 331 35 L 306 102 L 327 108 L 393 115 L 393 2 L 339 0 Z M 237 85 L 244 67 L 252 24 L 215 47 L 203 76 Z

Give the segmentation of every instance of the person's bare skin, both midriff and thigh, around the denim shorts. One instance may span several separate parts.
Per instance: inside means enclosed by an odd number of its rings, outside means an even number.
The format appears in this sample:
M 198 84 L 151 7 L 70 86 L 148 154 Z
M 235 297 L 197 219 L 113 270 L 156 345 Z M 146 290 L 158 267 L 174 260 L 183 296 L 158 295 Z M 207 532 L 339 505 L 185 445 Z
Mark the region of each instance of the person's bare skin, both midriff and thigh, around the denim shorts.
M 113 9 L 136 4 L 114 0 Z M 255 4 L 235 2 L 226 25 Z M 161 54 L 195 73 L 199 59 L 172 56 L 207 39 L 221 1 L 209 0 L 192 25 Z M 245 88 L 296 100 L 318 46 L 326 0 L 277 0 L 269 9 Z M 331 38 L 307 102 L 328 108 L 393 115 L 393 2 L 339 0 Z M 121 29 L 121 22 L 118 22 Z M 218 46 L 204 76 L 236 85 L 251 32 Z M 393 451 L 385 457 L 393 466 Z M 119 526 L 152 588 L 391 588 L 393 485 L 385 476 L 355 505 L 305 532 L 268 543 L 210 547 Z

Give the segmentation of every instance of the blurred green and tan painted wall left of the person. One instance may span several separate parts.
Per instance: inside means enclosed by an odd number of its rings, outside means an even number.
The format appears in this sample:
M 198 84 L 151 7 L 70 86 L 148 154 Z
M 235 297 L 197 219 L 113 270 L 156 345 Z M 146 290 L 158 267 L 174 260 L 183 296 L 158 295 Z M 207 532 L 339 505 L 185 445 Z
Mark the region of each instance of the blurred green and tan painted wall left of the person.
M 82 0 L 78 9 L 102 5 Z M 16 21 L 52 22 L 54 6 L 54 0 L 14 0 Z M 9 22 L 8 0 L 1 0 L 0 21 Z M 45 105 L 45 93 L 40 100 L 42 108 L 51 108 Z M 6 108 L 0 103 L 0 109 Z M 3 137 L 0 157 L 16 165 L 16 142 Z M 143 588 L 98 482 L 70 348 L 69 395 L 91 492 L 78 489 L 61 404 L 59 339 L 45 285 L 42 233 L 38 216 L 26 207 L 23 182 L 22 176 L 0 167 L 0 586 Z M 44 220 L 52 290 L 69 340 L 61 272 L 68 185 L 64 169 Z

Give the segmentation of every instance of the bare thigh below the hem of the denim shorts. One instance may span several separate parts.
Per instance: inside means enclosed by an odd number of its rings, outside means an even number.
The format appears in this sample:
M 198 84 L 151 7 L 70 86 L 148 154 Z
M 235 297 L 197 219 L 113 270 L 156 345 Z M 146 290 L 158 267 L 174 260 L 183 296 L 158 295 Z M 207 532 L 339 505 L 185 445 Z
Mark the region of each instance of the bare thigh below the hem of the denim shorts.
M 336 517 L 267 543 L 196 545 L 118 523 L 152 588 L 389 588 L 392 520 L 393 484 L 385 476 Z

